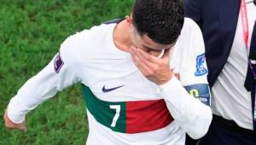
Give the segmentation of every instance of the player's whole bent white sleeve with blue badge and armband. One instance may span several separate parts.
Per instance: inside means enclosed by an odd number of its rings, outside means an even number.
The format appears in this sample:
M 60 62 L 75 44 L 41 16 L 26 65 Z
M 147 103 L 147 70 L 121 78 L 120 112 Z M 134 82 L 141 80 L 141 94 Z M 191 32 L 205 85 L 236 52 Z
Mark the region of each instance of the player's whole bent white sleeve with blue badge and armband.
M 193 20 L 186 20 L 184 29 L 176 49 L 185 50 L 181 54 L 174 54 L 182 60 L 179 68 L 180 81 L 173 75 L 159 89 L 177 124 L 189 136 L 198 139 L 207 133 L 212 121 L 212 110 L 207 106 L 210 105 L 210 93 L 205 46 L 200 28 Z

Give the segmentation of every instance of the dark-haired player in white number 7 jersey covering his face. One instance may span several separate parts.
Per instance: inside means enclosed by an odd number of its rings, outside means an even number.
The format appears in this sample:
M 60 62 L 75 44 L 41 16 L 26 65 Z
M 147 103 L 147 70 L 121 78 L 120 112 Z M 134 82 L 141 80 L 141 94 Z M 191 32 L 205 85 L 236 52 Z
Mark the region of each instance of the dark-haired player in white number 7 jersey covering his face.
M 89 145 L 184 144 L 185 132 L 200 138 L 212 120 L 201 31 L 179 0 L 136 0 L 124 20 L 67 38 L 11 99 L 6 126 L 26 130 L 27 112 L 75 83 Z

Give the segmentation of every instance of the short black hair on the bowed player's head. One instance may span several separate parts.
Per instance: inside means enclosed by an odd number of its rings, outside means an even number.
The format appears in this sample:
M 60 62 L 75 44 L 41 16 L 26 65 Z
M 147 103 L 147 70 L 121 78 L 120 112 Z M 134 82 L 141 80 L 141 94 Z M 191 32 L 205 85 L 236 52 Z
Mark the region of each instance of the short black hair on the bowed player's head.
M 131 13 L 137 32 L 158 44 L 175 43 L 183 27 L 181 0 L 135 0 Z

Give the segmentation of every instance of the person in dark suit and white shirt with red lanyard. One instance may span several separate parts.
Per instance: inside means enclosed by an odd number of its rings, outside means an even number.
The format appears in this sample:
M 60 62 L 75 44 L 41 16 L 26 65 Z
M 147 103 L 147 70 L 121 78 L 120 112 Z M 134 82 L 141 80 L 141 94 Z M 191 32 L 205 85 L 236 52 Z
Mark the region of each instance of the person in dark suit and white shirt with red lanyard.
M 212 125 L 200 144 L 256 144 L 255 0 L 184 0 L 201 27 L 212 88 Z M 187 144 L 195 144 L 188 139 Z

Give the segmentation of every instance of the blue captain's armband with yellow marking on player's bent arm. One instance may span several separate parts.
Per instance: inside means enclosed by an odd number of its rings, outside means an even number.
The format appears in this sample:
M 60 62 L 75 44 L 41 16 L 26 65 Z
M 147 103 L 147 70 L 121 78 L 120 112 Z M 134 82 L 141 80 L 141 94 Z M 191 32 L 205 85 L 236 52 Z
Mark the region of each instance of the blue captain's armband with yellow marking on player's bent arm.
M 211 94 L 208 84 L 193 84 L 184 86 L 184 88 L 191 96 L 195 96 L 195 98 L 198 98 L 202 103 L 211 106 Z

